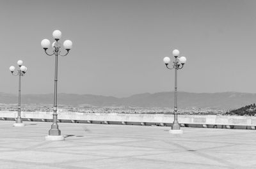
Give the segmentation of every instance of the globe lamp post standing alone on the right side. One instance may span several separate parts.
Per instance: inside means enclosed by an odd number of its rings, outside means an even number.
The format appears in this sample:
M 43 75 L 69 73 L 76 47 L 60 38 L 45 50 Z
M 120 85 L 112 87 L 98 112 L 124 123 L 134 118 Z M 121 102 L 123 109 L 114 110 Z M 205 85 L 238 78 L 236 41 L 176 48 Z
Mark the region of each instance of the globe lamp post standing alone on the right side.
M 170 57 L 164 57 L 163 61 L 164 61 L 164 64 L 166 65 L 166 68 L 168 68 L 168 70 L 175 70 L 175 87 L 174 87 L 174 121 L 173 121 L 173 126 L 172 126 L 172 129 L 170 129 L 170 133 L 173 133 L 173 134 L 181 134 L 183 133 L 183 131 L 180 129 L 180 125 L 179 125 L 179 122 L 178 122 L 178 107 L 177 107 L 177 102 L 178 102 L 178 99 L 177 99 L 177 73 L 178 73 L 178 70 L 181 70 L 186 62 L 186 57 L 182 56 L 182 57 L 179 57 L 179 50 L 175 49 L 172 51 L 172 54 L 173 56 L 175 57 L 175 61 L 173 62 L 173 65 L 172 67 L 168 67 L 168 64 L 170 63 Z

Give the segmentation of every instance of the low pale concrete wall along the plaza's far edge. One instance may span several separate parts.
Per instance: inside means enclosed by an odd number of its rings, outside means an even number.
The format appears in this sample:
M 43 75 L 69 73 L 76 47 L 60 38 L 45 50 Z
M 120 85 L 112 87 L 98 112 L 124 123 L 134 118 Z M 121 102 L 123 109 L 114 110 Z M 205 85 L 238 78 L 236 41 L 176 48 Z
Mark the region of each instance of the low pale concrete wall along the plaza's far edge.
M 0 118 L 15 118 L 17 112 L 0 111 Z M 23 119 L 52 119 L 52 112 L 21 112 Z M 256 117 L 248 116 L 223 116 L 223 115 L 179 115 L 180 124 L 203 124 L 203 125 L 226 125 L 226 126 L 256 126 Z M 99 113 L 78 113 L 60 112 L 58 119 L 68 121 L 102 121 L 102 122 L 139 122 L 171 124 L 171 114 L 99 114 Z

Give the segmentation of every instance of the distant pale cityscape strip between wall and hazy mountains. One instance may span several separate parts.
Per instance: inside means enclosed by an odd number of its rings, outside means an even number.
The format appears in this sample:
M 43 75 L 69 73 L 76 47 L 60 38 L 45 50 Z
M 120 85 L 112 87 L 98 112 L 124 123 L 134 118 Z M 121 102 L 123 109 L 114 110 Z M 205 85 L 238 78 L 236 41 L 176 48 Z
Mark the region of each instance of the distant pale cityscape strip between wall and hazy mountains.
M 0 103 L 0 111 L 17 111 L 17 104 Z M 24 104 L 21 108 L 24 112 L 52 112 L 52 105 Z M 67 106 L 59 105 L 58 112 L 80 113 L 117 113 L 117 114 L 173 114 L 173 108 L 169 107 L 95 107 L 91 105 Z M 221 108 L 181 108 L 179 114 L 183 115 L 225 115 L 227 110 Z

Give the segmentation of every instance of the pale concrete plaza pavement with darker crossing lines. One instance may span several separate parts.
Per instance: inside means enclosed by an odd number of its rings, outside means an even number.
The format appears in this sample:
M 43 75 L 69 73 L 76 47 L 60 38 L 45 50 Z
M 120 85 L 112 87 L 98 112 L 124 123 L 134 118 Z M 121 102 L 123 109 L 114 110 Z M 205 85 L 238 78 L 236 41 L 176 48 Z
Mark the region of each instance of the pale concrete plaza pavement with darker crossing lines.
M 0 121 L 0 168 L 256 168 L 256 131 L 59 123 L 65 141 L 45 141 L 51 122 Z

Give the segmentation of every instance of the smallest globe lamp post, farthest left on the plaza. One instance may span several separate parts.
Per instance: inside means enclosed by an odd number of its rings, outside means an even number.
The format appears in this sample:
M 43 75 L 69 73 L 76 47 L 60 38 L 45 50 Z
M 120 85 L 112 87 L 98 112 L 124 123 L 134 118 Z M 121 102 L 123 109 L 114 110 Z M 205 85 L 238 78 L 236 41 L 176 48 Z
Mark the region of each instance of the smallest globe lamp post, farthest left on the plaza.
M 25 126 L 25 124 L 22 122 L 22 119 L 20 117 L 20 81 L 21 81 L 21 77 L 23 77 L 27 71 L 26 66 L 22 66 L 23 62 L 22 61 L 18 61 L 17 64 L 19 65 L 19 70 L 15 71 L 15 67 L 14 66 L 10 66 L 10 71 L 12 73 L 12 75 L 14 76 L 19 76 L 19 103 L 18 103 L 18 117 L 15 121 L 15 123 L 13 124 L 13 126 L 15 127 L 20 127 L 20 126 Z

